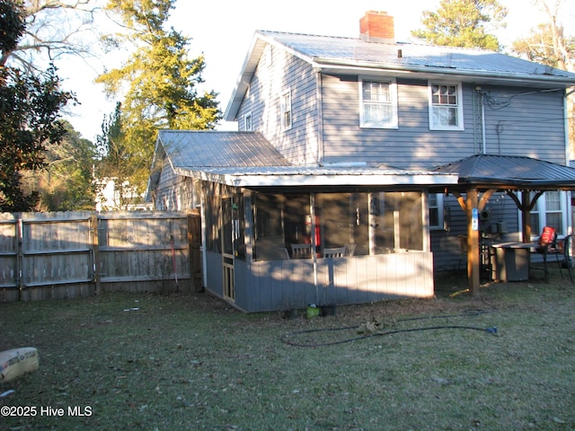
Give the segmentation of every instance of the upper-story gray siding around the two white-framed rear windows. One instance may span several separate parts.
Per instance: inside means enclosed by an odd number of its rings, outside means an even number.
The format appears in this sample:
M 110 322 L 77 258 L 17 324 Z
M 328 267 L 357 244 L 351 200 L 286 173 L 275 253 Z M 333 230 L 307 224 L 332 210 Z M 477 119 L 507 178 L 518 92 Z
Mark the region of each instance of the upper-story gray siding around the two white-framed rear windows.
M 462 131 L 429 130 L 427 81 L 398 79 L 397 86 L 399 128 L 360 128 L 357 77 L 323 76 L 324 163 L 433 167 L 482 152 L 481 103 L 474 85 L 463 87 Z M 486 85 L 482 91 L 489 96 L 483 110 L 487 154 L 565 163 L 562 92 Z

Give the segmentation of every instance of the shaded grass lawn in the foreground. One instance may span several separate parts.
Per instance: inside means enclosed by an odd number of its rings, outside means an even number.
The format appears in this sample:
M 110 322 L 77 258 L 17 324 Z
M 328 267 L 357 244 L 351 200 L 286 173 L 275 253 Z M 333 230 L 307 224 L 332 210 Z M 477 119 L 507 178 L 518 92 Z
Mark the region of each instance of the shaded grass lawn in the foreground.
M 38 409 L 0 428 L 574 429 L 575 286 L 558 271 L 473 298 L 451 295 L 464 277 L 437 285 L 433 300 L 311 320 L 244 314 L 207 294 L 1 303 L 0 350 L 37 347 L 40 369 L 0 385 L 14 391 L 0 405 Z M 383 331 L 444 328 L 324 345 L 374 320 Z M 354 328 L 314 331 L 343 327 Z M 40 415 L 48 407 L 65 415 Z M 68 415 L 74 407 L 90 416 Z

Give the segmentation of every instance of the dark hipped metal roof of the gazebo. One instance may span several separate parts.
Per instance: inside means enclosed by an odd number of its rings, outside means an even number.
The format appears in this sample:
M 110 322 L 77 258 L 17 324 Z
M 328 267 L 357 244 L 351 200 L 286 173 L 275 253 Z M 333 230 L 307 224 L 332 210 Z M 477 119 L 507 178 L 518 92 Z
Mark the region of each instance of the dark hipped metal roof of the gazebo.
M 524 189 L 575 189 L 575 169 L 525 156 L 477 154 L 438 167 L 459 184 Z

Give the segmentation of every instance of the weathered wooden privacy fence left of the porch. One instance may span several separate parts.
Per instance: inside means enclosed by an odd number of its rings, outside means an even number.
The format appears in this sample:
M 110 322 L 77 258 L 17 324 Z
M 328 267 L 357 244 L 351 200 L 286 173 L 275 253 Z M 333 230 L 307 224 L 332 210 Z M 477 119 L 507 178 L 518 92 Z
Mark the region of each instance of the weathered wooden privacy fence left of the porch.
M 199 226 L 197 213 L 0 214 L 0 301 L 198 291 Z

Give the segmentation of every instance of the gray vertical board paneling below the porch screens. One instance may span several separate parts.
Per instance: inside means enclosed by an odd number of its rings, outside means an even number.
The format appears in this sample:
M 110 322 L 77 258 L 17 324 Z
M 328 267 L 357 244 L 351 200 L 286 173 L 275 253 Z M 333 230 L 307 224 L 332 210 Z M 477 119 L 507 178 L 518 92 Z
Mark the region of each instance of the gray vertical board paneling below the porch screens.
M 212 253 L 208 253 L 212 254 Z M 208 286 L 222 295 L 221 257 L 208 257 Z M 219 264 L 218 264 L 219 261 Z M 217 268 L 219 266 L 219 268 Z M 429 252 L 317 259 L 235 262 L 235 305 L 246 312 L 305 308 L 310 303 L 368 303 L 398 297 L 433 296 L 433 256 Z

